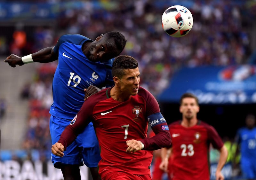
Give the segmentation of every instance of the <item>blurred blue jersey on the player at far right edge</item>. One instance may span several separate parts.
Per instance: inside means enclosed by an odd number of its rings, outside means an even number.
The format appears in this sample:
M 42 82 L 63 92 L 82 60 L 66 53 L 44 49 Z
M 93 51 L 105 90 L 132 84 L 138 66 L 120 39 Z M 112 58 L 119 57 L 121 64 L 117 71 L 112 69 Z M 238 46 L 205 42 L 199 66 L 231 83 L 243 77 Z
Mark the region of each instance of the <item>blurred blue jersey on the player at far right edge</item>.
M 236 140 L 240 144 L 241 159 L 256 160 L 256 128 L 241 128 L 237 131 Z

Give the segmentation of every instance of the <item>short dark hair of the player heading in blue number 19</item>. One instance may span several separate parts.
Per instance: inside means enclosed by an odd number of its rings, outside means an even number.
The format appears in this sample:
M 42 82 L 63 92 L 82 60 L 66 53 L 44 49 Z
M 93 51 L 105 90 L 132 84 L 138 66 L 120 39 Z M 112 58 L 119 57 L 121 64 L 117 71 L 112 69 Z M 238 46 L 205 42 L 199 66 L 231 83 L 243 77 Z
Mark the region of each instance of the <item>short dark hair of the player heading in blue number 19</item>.
M 124 37 L 124 35 L 122 35 L 120 32 L 118 31 L 110 31 L 106 34 L 104 34 L 107 36 L 107 38 L 113 38 L 116 44 L 116 48 L 122 52 L 124 50 L 124 47 L 126 45 L 126 39 Z

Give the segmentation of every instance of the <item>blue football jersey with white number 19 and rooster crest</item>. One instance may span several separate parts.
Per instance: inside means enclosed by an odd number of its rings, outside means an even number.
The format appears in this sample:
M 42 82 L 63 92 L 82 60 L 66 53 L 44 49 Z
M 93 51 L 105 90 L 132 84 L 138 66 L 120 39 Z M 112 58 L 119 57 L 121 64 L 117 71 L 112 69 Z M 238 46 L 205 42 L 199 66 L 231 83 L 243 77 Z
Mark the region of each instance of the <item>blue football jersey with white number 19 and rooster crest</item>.
M 92 62 L 82 51 L 84 42 L 91 39 L 83 35 L 62 35 L 54 47 L 59 54 L 52 94 L 50 114 L 72 120 L 84 102 L 84 88 L 90 85 L 98 88 L 114 85 L 111 68 L 114 59 L 106 62 Z

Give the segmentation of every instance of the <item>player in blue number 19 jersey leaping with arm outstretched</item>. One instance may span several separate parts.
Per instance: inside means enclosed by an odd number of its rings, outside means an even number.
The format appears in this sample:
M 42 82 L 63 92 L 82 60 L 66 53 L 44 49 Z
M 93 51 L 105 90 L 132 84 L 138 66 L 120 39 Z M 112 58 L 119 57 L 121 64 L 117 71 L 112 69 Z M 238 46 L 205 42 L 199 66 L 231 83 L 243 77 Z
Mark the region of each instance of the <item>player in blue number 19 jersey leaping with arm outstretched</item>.
M 53 104 L 50 109 L 50 133 L 55 144 L 71 120 L 76 116 L 92 87 L 110 87 L 112 62 L 124 49 L 126 39 L 119 32 L 100 35 L 95 41 L 83 35 L 62 35 L 56 46 L 47 47 L 33 54 L 19 57 L 10 55 L 5 59 L 10 66 L 22 66 L 31 62 L 47 63 L 59 59 L 53 82 Z M 87 91 L 84 94 L 84 89 Z M 93 93 L 95 93 L 92 90 Z M 67 149 L 63 158 L 52 154 L 52 163 L 60 168 L 64 180 L 79 180 L 79 166 L 90 168 L 93 179 L 98 176 L 97 165 L 100 152 L 92 123 Z

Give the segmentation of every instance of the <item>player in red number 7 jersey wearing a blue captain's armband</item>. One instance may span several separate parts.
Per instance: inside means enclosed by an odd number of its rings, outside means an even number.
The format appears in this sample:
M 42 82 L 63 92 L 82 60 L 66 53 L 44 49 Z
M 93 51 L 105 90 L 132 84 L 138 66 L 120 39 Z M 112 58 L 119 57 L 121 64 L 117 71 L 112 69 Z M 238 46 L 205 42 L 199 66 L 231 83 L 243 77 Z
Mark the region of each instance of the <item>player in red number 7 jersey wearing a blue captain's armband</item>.
M 168 125 L 151 93 L 139 86 L 138 62 L 131 56 L 114 60 L 115 85 L 88 98 L 52 153 L 62 157 L 65 149 L 92 121 L 99 140 L 102 180 L 151 180 L 153 150 L 171 145 Z M 147 138 L 148 124 L 156 134 Z M 64 153 L 63 153 L 64 152 Z

